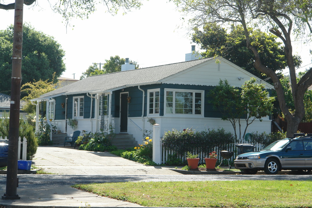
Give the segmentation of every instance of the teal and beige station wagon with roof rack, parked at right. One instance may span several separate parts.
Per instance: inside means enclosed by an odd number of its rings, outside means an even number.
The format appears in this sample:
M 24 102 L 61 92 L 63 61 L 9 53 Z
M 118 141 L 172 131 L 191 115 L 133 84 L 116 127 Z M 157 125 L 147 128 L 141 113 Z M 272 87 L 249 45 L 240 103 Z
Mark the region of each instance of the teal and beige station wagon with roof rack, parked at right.
M 238 155 L 234 166 L 246 174 L 256 174 L 259 170 L 269 175 L 277 174 L 280 170 L 308 174 L 312 169 L 312 137 L 299 134 L 277 140 L 261 151 Z

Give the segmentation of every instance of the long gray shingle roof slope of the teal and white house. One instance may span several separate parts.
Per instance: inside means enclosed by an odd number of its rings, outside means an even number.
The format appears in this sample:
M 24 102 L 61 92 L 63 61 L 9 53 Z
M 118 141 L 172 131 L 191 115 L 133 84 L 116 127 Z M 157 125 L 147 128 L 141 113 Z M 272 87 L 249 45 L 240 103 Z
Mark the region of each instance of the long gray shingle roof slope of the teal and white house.
M 73 84 L 53 90 L 40 96 L 45 98 L 57 94 L 76 94 L 85 92 L 101 92 L 116 89 L 125 85 L 140 85 L 143 83 L 158 82 L 168 76 L 174 75 L 183 70 L 202 64 L 212 58 L 185 61 L 180 63 L 153 66 L 148 68 L 119 71 L 110 74 L 89 76 Z

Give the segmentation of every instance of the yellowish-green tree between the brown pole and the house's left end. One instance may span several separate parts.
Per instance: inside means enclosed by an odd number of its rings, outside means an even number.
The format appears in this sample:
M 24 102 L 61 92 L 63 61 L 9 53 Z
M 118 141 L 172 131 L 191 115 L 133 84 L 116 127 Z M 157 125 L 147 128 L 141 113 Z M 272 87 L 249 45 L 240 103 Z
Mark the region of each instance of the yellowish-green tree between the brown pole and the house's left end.
M 31 99 L 40 97 L 40 95 L 47 92 L 51 92 L 60 87 L 60 82 L 54 83 L 54 81 L 49 80 L 39 80 L 34 82 L 28 82 L 21 87 L 21 93 L 27 94 L 22 100 L 26 101 L 26 105 L 22 108 L 28 114 L 36 112 L 36 106 L 32 104 Z

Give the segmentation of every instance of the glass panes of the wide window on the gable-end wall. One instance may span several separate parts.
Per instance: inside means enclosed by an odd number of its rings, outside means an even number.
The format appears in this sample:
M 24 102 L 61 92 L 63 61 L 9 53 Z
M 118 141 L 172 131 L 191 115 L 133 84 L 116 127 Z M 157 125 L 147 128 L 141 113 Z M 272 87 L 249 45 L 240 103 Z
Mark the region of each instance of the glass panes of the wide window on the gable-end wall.
M 202 114 L 202 91 L 165 90 L 166 114 Z

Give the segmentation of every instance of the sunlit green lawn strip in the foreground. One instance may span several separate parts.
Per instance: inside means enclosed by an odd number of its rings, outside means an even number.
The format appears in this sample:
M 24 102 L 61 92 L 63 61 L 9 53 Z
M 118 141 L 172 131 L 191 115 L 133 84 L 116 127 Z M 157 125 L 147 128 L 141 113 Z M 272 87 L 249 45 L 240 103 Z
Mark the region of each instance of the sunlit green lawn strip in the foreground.
M 73 187 L 142 206 L 312 207 L 312 181 L 119 182 Z

